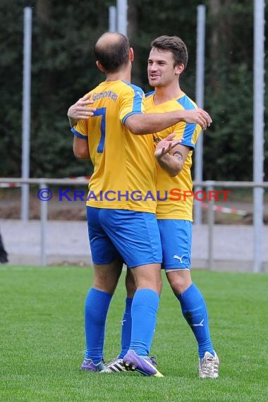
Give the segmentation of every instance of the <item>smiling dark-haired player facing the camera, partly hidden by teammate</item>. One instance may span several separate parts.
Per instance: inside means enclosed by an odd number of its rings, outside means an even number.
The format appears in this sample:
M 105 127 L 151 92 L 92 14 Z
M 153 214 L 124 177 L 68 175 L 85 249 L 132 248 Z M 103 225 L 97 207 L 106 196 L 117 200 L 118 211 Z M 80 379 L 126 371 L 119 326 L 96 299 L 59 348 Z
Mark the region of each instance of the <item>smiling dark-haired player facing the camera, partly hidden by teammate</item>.
M 152 41 L 148 59 L 148 79 L 154 91 L 146 95 L 145 111 L 163 113 L 197 108 L 179 85 L 181 73 L 188 63 L 188 51 L 181 38 L 162 36 Z M 157 159 L 157 223 L 163 250 L 162 269 L 178 299 L 183 316 L 193 331 L 198 346 L 199 375 L 217 378 L 219 358 L 209 334 L 207 306 L 190 275 L 192 245 L 193 185 L 190 173 L 195 142 L 200 133 L 198 124 L 179 122 L 153 134 Z M 183 138 L 171 149 L 171 141 Z M 126 310 L 122 321 L 122 349 L 118 358 L 106 365 L 107 370 L 123 370 L 123 357 L 128 351 L 131 331 L 133 279 L 126 277 Z

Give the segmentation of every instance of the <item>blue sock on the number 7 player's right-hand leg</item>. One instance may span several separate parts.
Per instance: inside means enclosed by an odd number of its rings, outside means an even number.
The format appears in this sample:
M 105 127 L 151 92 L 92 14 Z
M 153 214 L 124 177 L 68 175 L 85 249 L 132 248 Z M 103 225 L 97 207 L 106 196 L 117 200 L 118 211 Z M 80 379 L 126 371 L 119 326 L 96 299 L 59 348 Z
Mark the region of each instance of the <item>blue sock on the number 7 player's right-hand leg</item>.
M 151 289 L 139 289 L 135 292 L 132 307 L 132 330 L 129 348 L 137 355 L 147 356 L 157 323 L 159 295 Z

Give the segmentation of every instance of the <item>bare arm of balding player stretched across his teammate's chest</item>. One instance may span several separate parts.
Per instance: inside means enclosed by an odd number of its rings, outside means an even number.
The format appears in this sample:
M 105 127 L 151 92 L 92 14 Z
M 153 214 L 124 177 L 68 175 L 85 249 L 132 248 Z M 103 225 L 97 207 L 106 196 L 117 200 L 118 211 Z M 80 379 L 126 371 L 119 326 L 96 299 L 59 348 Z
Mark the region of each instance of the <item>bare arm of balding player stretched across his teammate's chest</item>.
M 166 113 L 131 114 L 124 124 L 134 134 L 150 134 L 174 126 L 180 121 L 199 124 L 205 130 L 212 123 L 212 118 L 207 111 L 197 108 Z

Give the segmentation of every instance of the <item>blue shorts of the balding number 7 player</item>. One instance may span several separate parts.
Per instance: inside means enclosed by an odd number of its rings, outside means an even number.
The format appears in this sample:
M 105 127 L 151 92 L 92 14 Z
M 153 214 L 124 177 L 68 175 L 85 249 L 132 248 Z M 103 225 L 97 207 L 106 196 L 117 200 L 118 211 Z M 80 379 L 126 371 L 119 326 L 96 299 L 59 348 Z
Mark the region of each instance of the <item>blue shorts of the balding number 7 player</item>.
M 87 227 L 95 264 L 109 264 L 116 258 L 121 258 L 129 268 L 162 262 L 154 214 L 87 207 Z

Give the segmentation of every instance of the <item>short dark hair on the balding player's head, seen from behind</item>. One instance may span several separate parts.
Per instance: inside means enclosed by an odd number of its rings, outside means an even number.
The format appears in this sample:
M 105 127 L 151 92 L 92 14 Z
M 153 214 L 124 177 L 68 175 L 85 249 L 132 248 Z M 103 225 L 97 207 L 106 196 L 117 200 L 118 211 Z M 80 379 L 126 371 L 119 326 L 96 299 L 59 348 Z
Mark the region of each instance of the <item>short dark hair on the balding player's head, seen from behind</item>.
M 106 32 L 104 35 L 109 35 Z M 104 37 L 102 35 L 99 39 Z M 97 61 L 102 64 L 106 72 L 115 73 L 129 60 L 129 40 L 125 35 L 114 33 L 114 40 L 109 44 L 99 43 L 99 39 L 94 47 Z

